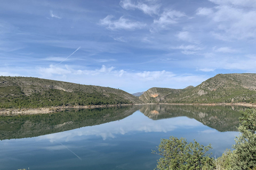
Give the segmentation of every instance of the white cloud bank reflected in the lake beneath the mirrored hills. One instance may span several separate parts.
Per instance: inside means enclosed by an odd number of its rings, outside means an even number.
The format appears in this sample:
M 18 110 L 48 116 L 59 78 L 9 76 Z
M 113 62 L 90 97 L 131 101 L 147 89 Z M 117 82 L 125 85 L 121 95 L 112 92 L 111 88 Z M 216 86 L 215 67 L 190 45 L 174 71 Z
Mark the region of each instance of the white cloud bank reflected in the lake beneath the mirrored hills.
M 204 126 L 202 123 L 187 117 L 175 117 L 163 120 L 151 120 L 137 111 L 123 120 L 105 123 L 95 126 L 87 126 L 75 130 L 53 133 L 38 137 L 37 140 L 73 141 L 76 137 L 87 137 L 91 135 L 101 137 L 103 140 L 116 138 L 132 132 L 170 132 L 175 129 L 189 129 L 191 127 Z

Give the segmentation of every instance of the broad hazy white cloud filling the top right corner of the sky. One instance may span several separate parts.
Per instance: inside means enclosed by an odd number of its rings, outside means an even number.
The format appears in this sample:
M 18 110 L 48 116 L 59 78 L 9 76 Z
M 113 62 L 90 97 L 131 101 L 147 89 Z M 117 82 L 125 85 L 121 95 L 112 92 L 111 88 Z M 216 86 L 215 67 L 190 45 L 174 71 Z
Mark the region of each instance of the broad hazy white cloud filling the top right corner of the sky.
M 256 1 L 220 1 L 213 8 L 198 8 L 197 14 L 208 15 L 217 24 L 212 35 L 230 41 L 256 38 Z

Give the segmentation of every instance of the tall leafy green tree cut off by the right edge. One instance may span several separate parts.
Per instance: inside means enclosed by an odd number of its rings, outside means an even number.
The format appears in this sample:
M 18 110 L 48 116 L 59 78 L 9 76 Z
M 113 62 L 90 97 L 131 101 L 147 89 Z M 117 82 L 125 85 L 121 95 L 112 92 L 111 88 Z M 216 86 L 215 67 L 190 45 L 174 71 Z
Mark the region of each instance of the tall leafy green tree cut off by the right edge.
M 256 109 L 247 109 L 239 118 L 236 144 L 233 146 L 236 169 L 253 169 L 256 167 Z

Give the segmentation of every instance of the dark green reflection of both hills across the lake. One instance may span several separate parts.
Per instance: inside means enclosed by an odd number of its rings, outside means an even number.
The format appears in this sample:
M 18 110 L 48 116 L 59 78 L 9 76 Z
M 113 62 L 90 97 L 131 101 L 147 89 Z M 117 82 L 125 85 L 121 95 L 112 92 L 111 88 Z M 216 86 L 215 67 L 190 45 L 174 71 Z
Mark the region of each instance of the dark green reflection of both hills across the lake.
M 220 132 L 237 131 L 244 107 L 196 105 L 141 105 L 95 109 L 69 109 L 53 114 L 0 116 L 0 139 L 31 138 L 85 126 L 122 120 L 140 111 L 152 120 L 186 116 Z M 138 120 L 139 121 L 139 120 Z M 138 121 L 135 121 L 138 123 Z M 134 123 L 135 123 L 134 122 Z M 130 126 L 132 126 L 130 124 Z M 134 127 L 135 128 L 135 127 Z

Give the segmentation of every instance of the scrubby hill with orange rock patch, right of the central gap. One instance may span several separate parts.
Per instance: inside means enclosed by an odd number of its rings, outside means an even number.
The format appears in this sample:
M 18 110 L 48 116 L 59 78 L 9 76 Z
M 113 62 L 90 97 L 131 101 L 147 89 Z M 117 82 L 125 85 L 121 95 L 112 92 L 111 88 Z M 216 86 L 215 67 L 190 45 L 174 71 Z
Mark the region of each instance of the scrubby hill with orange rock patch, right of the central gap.
M 151 88 L 139 99 L 145 103 L 256 103 L 256 74 L 217 74 L 185 89 Z

